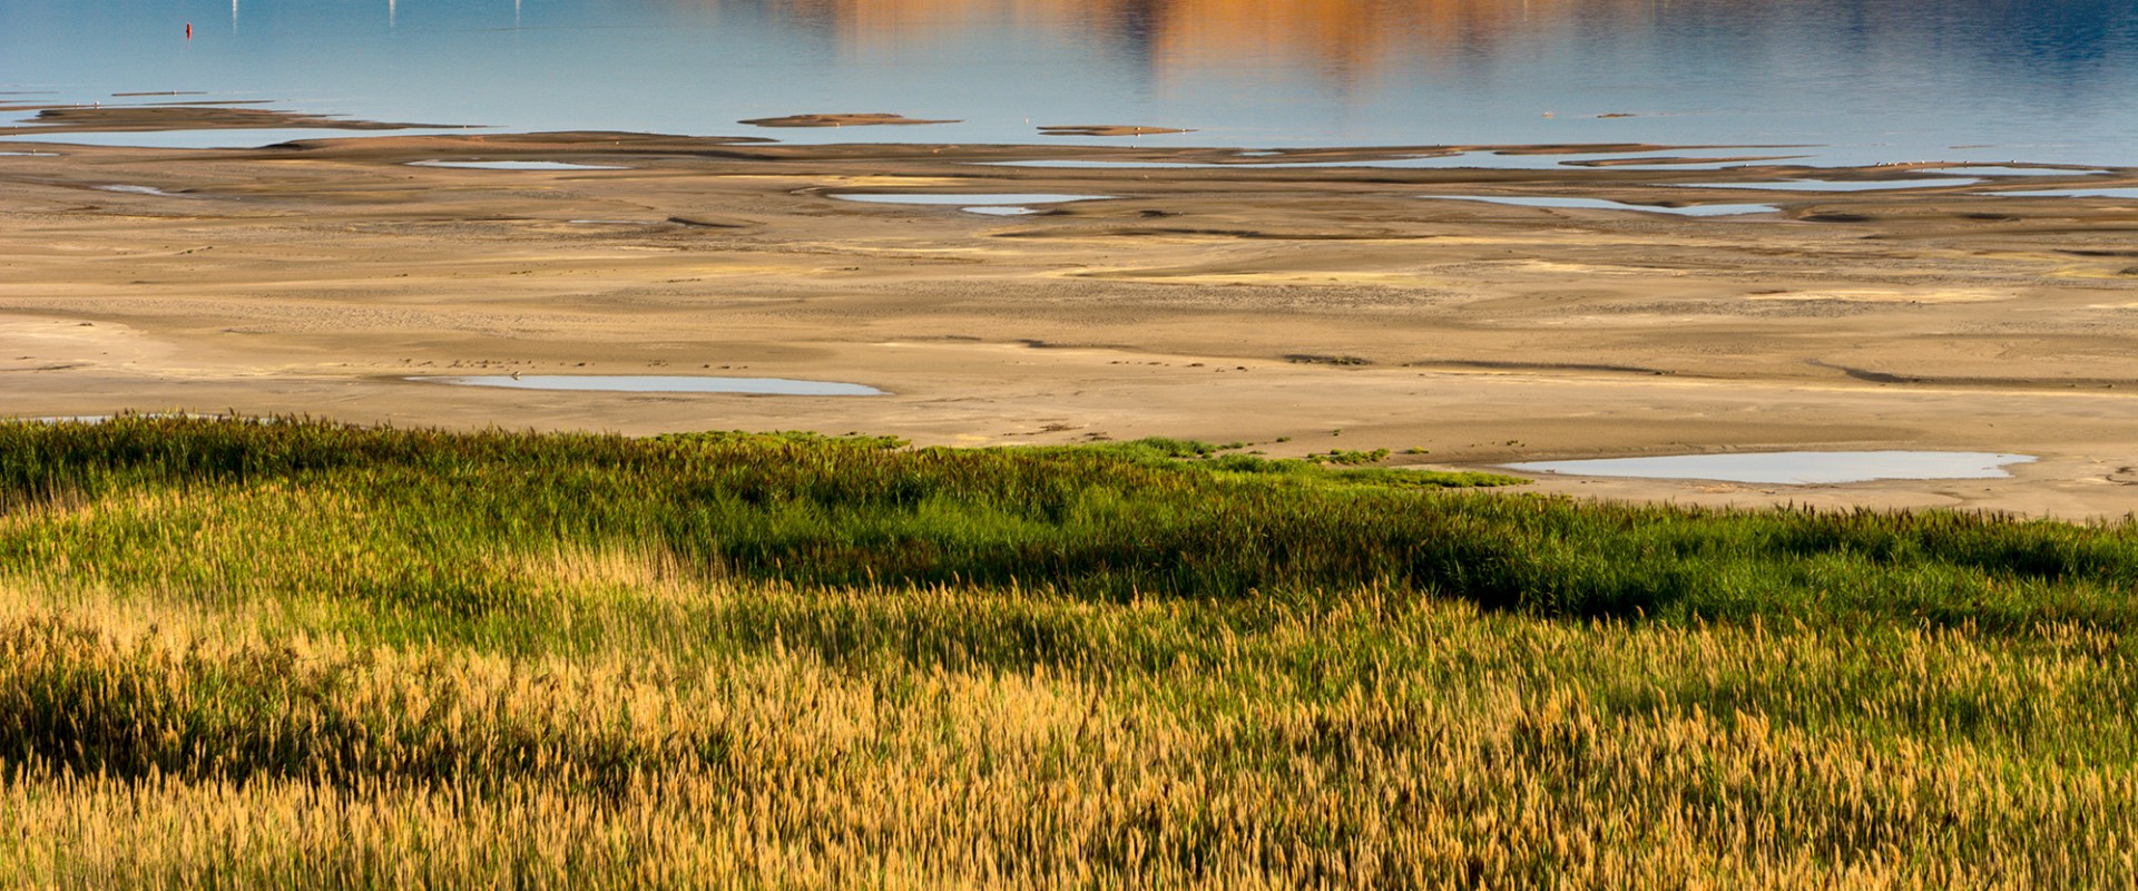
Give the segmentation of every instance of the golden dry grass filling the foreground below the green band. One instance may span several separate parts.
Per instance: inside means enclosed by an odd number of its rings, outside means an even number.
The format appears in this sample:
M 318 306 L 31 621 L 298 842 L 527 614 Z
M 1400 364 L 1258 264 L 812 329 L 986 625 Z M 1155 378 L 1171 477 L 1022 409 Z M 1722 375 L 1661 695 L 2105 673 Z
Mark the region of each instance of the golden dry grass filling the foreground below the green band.
M 500 656 L 79 592 L 53 605 L 17 583 L 0 618 L 4 709 L 64 694 L 73 714 L 128 714 L 145 754 L 118 771 L 11 759 L 0 874 L 28 887 L 2138 876 L 2132 722 L 2104 712 L 2129 694 L 2129 667 L 2102 635 L 1554 624 L 1375 592 L 1199 635 L 1219 607 L 684 585 L 622 556 L 556 568 L 635 615 L 588 652 Z M 1080 628 L 1082 645 L 1024 665 L 956 658 L 960 622 L 988 613 Z M 907 656 L 919 652 L 932 656 Z M 1715 707 L 1728 699 L 1740 705 Z

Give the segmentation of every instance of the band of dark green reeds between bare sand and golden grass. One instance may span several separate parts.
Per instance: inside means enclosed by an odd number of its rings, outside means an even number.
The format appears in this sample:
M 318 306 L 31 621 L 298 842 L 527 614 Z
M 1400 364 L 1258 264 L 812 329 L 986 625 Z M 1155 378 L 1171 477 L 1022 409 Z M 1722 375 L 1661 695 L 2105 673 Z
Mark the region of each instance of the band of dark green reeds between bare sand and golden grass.
M 641 549 L 695 577 L 1086 598 L 1362 585 L 1559 618 L 2129 626 L 2138 534 L 1963 513 L 1717 513 L 1462 491 L 1187 440 L 447 434 L 308 421 L 0 425 L 0 570 L 201 598 L 323 592 L 455 626 Z

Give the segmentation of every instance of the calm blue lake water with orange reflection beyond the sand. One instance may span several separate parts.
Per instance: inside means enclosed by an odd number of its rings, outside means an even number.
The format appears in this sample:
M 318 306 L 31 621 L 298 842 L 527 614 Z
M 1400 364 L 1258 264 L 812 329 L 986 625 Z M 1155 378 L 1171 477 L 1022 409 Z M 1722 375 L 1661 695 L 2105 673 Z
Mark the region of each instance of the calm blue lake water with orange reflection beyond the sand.
M 1159 124 L 1202 132 L 1137 139 L 2132 165 L 2138 0 L 0 0 L 0 92 L 148 90 L 789 141 Z M 815 111 L 964 124 L 735 124 Z

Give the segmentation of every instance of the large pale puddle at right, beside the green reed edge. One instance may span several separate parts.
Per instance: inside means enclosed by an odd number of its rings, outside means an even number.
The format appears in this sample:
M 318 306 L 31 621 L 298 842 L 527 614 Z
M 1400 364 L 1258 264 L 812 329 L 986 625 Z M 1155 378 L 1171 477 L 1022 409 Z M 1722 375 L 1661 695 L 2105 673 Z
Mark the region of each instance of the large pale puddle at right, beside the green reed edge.
M 1710 479 L 1721 483 L 1871 483 L 1881 479 L 2001 479 L 2005 464 L 2033 455 L 1988 451 L 1764 451 L 1734 455 L 1599 457 L 1584 462 L 1503 464 L 1507 470 L 1567 476 Z

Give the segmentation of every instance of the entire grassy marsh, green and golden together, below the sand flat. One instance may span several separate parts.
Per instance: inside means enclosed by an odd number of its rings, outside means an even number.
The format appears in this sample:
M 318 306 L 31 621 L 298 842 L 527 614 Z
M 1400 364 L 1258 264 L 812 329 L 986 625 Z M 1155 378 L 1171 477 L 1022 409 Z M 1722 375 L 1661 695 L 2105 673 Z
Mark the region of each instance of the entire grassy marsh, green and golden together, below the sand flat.
M 0 425 L 26 887 L 2129 887 L 2129 526 Z

